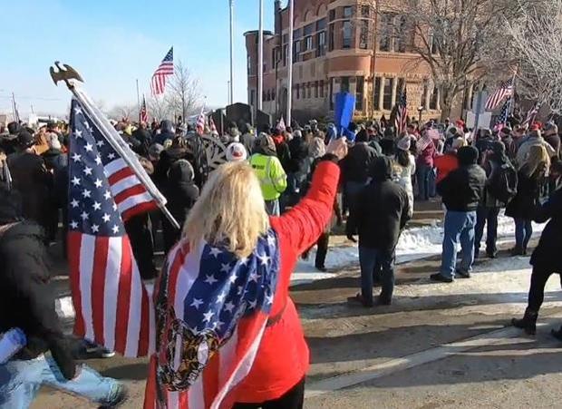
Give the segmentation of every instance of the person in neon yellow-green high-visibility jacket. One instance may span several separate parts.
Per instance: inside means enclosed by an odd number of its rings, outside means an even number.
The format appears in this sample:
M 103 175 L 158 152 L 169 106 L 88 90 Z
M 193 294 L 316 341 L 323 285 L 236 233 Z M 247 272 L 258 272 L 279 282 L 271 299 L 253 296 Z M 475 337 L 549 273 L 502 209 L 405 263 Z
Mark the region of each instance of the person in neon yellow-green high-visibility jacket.
M 267 214 L 278 216 L 279 197 L 286 190 L 286 172 L 276 156 L 276 144 L 266 133 L 261 133 L 257 140 L 255 153 L 250 157 L 250 166 L 254 169 L 266 200 Z

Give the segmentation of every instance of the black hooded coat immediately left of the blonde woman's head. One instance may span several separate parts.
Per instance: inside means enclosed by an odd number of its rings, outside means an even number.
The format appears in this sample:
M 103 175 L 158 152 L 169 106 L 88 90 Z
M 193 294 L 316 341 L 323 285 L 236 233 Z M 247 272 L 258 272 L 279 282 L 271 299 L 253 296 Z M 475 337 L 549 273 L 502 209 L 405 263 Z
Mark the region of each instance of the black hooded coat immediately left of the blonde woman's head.
M 199 198 L 199 188 L 193 180 L 193 167 L 189 161 L 175 161 L 168 172 L 168 184 L 164 196 L 168 200 L 166 207 L 170 210 L 179 226 L 183 226 L 189 209 Z

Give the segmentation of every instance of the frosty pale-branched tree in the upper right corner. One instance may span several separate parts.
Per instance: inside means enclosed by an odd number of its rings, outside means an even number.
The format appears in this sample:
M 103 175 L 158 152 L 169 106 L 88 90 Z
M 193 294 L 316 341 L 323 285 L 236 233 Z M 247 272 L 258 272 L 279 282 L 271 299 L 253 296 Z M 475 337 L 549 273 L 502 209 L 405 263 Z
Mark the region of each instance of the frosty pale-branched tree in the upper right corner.
M 562 112 L 562 0 L 538 2 L 506 25 L 519 93 Z

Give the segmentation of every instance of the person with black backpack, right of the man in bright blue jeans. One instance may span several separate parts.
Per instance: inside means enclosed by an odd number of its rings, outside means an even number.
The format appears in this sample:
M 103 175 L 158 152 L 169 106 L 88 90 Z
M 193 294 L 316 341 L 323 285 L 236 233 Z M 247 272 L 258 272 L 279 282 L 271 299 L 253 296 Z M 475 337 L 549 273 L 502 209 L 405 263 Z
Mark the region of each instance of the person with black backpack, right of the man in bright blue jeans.
M 489 150 L 484 152 L 482 167 L 486 171 L 488 180 L 476 212 L 474 257 L 479 258 L 480 241 L 484 235 L 484 227 L 488 226 L 486 255 L 489 258 L 496 258 L 499 209 L 505 208 L 509 200 L 515 196 L 518 176 L 517 170 L 506 156 L 506 146 L 501 141 L 493 141 Z

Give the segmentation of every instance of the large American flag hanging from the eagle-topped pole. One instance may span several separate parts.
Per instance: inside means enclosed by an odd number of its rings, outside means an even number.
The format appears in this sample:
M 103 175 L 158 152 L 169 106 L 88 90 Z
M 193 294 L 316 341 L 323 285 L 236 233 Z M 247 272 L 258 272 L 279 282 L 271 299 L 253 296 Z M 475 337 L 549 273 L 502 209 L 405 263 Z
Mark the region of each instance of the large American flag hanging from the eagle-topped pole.
M 74 333 L 122 355 L 147 355 L 154 313 L 123 220 L 157 205 L 94 123 L 73 100 L 68 252 Z

